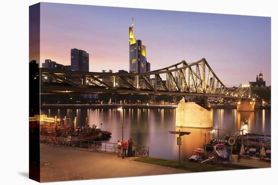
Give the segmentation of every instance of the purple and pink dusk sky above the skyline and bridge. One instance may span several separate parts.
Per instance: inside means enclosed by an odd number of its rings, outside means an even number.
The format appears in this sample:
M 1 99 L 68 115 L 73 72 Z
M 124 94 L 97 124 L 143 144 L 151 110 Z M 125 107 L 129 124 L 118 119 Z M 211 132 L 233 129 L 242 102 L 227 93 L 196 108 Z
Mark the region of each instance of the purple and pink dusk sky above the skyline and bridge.
M 89 71 L 129 69 L 128 27 L 146 45 L 151 71 L 206 58 L 227 86 L 271 84 L 270 18 L 41 3 L 40 63 L 70 65 L 70 49 L 89 53 Z

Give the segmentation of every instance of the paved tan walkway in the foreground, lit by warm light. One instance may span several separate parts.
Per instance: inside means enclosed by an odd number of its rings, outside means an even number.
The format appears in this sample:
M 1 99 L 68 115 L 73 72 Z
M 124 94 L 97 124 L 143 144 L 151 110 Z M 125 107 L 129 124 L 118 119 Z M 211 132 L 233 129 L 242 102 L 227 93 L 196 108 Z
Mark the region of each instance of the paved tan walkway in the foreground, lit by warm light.
M 114 154 L 41 144 L 41 181 L 143 176 L 190 171 L 122 159 Z

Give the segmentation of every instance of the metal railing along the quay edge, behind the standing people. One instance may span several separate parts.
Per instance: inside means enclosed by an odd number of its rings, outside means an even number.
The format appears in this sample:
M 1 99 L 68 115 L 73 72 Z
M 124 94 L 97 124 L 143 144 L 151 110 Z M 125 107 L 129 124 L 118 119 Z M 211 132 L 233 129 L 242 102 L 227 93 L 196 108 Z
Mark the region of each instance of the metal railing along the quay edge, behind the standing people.
M 52 136 L 41 136 L 40 142 L 46 145 L 73 147 L 73 149 L 85 149 L 90 152 L 105 152 L 118 154 L 117 143 L 103 141 L 78 140 L 74 138 L 59 138 Z M 122 150 L 121 150 L 122 152 Z M 127 149 L 126 149 L 127 154 Z M 149 147 L 141 145 L 133 145 L 131 156 L 149 157 Z

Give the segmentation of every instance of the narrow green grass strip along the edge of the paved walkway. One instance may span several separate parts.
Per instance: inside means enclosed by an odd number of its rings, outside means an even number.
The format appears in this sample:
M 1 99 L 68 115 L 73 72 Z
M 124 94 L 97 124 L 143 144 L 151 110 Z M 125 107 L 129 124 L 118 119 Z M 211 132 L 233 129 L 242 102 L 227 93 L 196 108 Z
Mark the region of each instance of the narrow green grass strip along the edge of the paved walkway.
M 167 166 L 167 167 L 183 169 L 183 170 L 189 170 L 193 172 L 240 169 L 240 168 L 222 167 L 217 165 L 200 164 L 200 163 L 187 162 L 187 161 L 181 161 L 179 165 L 178 161 L 175 160 L 168 160 L 168 159 L 154 158 L 154 157 L 141 157 L 141 158 L 133 159 L 133 161 Z

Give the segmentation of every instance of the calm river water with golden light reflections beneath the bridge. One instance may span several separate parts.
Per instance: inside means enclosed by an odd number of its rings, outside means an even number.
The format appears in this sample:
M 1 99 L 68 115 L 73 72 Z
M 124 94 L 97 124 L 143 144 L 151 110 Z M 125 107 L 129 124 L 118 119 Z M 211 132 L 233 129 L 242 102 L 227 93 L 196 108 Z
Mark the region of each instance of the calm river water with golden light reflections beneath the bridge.
M 245 132 L 258 132 L 270 135 L 270 109 L 255 109 L 254 112 L 238 112 L 236 109 L 213 109 L 213 127 L 222 129 L 238 130 L 246 129 Z M 88 117 L 89 125 L 96 125 L 110 131 L 112 137 L 108 142 L 116 143 L 122 138 L 121 111 L 112 108 L 42 108 L 41 114 L 54 117 L 70 117 L 71 124 L 77 117 L 77 126 L 85 126 L 85 118 Z M 248 124 L 242 125 L 241 120 L 247 119 Z M 169 131 L 187 131 L 190 135 L 182 136 L 180 147 L 181 160 L 188 160 L 192 151 L 202 148 L 204 133 L 209 129 L 190 129 L 175 127 L 175 109 L 172 108 L 125 108 L 123 109 L 124 138 L 132 137 L 135 145 L 150 147 L 150 156 L 167 159 L 178 159 L 177 135 Z M 219 136 L 234 135 L 235 131 L 224 133 Z M 208 136 L 216 137 L 217 133 Z

